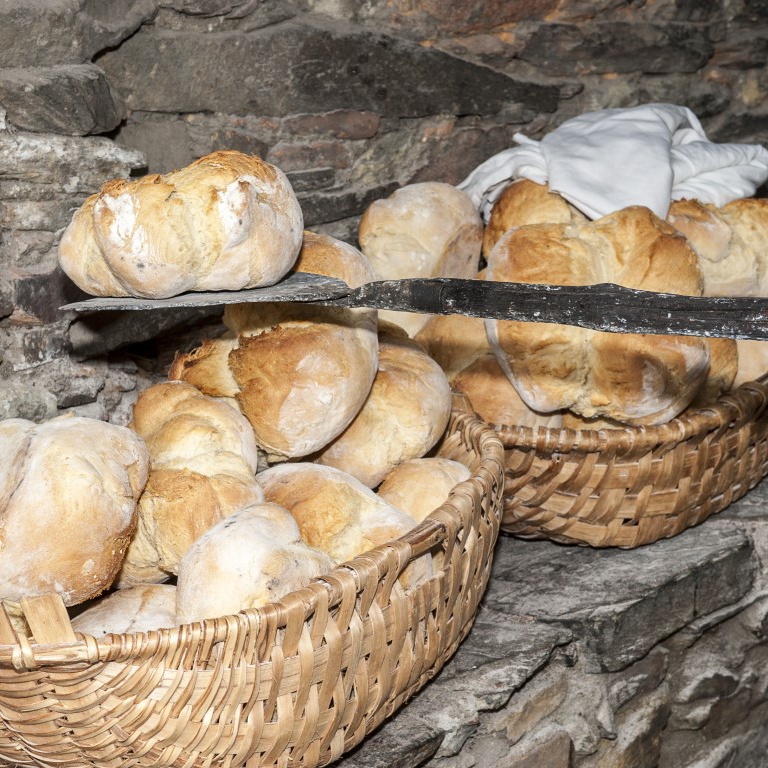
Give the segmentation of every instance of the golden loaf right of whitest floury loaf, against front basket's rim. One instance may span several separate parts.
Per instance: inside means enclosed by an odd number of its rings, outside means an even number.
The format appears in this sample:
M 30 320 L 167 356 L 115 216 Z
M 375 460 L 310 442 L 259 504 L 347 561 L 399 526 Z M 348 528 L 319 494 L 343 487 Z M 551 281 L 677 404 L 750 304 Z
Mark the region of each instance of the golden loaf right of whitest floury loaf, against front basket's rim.
M 405 512 L 334 467 L 277 464 L 261 472 L 259 482 L 267 501 L 293 515 L 302 540 L 337 562 L 399 538 L 416 525 Z

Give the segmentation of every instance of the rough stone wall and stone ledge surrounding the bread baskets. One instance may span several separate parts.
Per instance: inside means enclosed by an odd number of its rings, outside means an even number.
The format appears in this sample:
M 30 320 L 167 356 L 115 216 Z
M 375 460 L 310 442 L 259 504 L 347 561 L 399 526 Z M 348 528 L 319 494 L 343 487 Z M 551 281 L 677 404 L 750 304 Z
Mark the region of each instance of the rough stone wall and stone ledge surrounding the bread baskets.
M 57 264 L 116 177 L 217 149 L 285 171 L 305 224 L 461 181 L 521 132 L 669 102 L 768 146 L 768 3 L 6 0 L 0 5 L 0 418 L 126 424 L 220 308 L 76 316 Z M 765 196 L 765 189 L 758 191 Z M 456 658 L 338 765 L 765 768 L 768 494 L 632 552 L 502 537 Z

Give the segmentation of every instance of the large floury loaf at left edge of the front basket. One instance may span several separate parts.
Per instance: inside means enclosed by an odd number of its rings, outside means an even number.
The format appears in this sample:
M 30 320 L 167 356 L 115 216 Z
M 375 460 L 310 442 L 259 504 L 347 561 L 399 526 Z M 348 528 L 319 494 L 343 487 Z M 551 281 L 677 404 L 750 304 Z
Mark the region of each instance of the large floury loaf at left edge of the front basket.
M 0 597 L 75 605 L 112 584 L 149 457 L 126 427 L 60 416 L 0 422 Z

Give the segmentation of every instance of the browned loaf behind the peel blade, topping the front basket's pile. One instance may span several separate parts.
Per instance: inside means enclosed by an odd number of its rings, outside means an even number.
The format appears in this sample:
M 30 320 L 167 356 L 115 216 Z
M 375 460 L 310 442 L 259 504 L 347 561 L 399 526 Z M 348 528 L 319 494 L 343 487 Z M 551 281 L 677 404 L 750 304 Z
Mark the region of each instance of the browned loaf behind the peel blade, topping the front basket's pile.
M 372 279 L 351 245 L 307 232 L 297 271 Z M 171 379 L 234 397 L 272 462 L 307 456 L 346 429 L 378 366 L 376 311 L 300 303 L 229 305 L 229 334 L 177 355 Z

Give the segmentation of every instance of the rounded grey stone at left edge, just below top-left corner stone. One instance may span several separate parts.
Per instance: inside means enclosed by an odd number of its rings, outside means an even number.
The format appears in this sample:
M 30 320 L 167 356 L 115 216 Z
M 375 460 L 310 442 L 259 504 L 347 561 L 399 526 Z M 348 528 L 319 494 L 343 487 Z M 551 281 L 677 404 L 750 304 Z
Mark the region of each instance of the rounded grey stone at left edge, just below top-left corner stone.
M 92 64 L 0 70 L 6 122 L 35 133 L 106 133 L 124 117 L 104 72 Z

